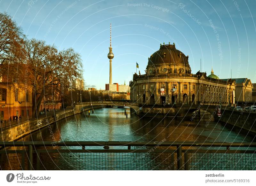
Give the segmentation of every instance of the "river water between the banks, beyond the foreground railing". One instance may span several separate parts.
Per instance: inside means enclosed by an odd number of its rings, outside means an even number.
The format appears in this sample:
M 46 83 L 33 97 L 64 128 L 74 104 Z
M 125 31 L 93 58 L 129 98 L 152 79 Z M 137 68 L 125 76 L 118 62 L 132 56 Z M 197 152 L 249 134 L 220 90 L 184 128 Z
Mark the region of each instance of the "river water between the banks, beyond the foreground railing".
M 128 118 L 124 114 L 128 114 Z M 252 142 L 254 136 L 239 134 L 224 124 L 204 119 L 145 118 L 129 108 L 105 108 L 71 116 L 25 136 L 24 141 L 190 141 Z

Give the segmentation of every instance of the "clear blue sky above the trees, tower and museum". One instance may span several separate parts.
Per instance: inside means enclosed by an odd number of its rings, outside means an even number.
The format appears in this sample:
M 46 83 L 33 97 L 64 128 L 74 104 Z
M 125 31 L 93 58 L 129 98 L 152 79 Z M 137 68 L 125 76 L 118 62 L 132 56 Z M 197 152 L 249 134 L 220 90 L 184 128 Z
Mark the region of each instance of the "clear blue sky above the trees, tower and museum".
M 129 84 L 141 74 L 160 43 L 175 43 L 188 55 L 192 73 L 200 70 L 220 79 L 249 78 L 256 83 L 256 1 L 150 0 L 0 0 L 28 38 L 45 40 L 59 50 L 80 53 L 88 87 L 109 82 L 112 24 L 113 83 Z

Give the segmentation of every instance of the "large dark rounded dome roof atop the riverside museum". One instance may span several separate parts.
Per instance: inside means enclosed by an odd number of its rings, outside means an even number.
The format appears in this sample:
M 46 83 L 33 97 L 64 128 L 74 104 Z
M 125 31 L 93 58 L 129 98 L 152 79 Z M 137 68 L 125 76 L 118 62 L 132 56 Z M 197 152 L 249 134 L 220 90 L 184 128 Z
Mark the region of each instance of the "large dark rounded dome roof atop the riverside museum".
M 148 59 L 148 65 L 183 65 L 189 66 L 188 56 L 185 56 L 180 50 L 175 48 L 173 44 L 160 44 L 160 49 Z

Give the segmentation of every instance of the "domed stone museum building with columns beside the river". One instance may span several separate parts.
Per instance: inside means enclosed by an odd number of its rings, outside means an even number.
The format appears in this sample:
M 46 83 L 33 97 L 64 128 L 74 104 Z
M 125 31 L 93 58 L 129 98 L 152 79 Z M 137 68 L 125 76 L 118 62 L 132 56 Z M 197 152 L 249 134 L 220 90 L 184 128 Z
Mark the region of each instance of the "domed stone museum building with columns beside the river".
M 133 74 L 131 102 L 143 105 L 235 103 L 235 80 L 220 80 L 213 73 L 191 73 L 188 56 L 173 44 L 160 44 L 148 58 L 145 74 Z

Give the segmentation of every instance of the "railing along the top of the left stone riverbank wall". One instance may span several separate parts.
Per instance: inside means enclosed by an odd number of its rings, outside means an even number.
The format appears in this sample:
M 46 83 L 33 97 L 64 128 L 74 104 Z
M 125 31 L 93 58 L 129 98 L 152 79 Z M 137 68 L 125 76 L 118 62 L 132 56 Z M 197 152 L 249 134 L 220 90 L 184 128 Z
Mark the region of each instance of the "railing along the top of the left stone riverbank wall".
M 0 121 L 0 124 L 1 124 L 0 130 L 5 130 L 6 128 L 18 126 L 18 125 L 20 125 L 24 122 L 27 122 L 28 120 L 29 121 L 38 120 L 38 119 L 42 119 L 42 118 L 45 118 L 45 117 L 48 117 L 48 116 L 54 116 L 57 113 L 64 112 L 64 111 L 69 111 L 69 110 L 72 110 L 72 109 L 71 108 L 69 108 L 69 109 L 56 109 L 56 110 L 51 110 L 51 111 L 45 111 L 44 114 L 39 114 L 39 113 L 43 112 L 43 111 L 40 111 L 40 112 L 38 112 L 36 118 L 33 118 L 31 116 L 29 116 L 29 117 L 22 116 L 21 120 L 20 120 L 20 118 L 18 116 L 18 120 L 15 120 L 15 119 L 14 120 L 11 120 L 11 119 L 3 120 L 3 121 Z

